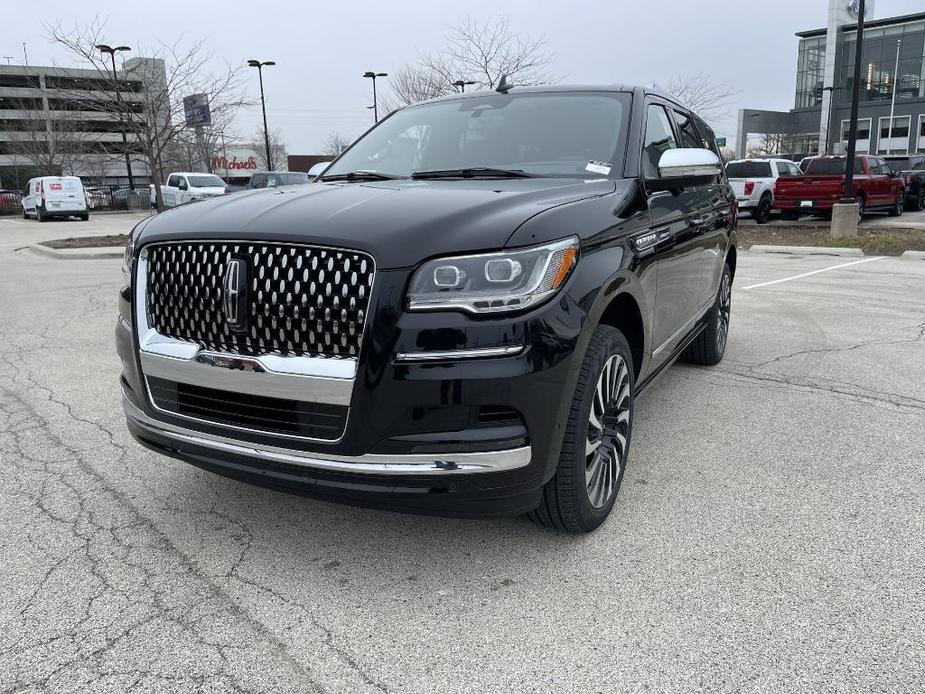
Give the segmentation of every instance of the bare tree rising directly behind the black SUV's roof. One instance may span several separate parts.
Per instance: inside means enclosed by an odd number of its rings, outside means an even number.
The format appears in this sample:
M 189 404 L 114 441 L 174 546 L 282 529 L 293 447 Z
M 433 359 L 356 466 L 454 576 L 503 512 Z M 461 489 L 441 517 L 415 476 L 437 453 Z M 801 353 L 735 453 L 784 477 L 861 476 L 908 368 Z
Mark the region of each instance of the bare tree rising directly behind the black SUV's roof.
M 383 99 L 383 110 L 450 94 L 459 80 L 486 89 L 498 86 L 502 76 L 519 85 L 554 82 L 549 72 L 552 61 L 545 36 L 518 33 L 506 17 L 484 21 L 468 17 L 450 29 L 443 51 L 422 55 L 392 71 L 391 94 Z

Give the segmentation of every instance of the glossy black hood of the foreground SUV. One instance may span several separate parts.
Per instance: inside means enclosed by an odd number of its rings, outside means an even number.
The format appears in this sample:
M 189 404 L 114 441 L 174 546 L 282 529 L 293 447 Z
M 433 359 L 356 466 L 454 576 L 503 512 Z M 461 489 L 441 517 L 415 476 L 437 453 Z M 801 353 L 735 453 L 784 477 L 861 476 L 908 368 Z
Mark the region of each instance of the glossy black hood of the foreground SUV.
M 314 183 L 224 195 L 153 217 L 140 244 L 259 239 L 354 248 L 380 269 L 501 248 L 531 217 L 607 195 L 614 181 L 510 180 Z M 563 236 L 574 230 L 563 231 Z

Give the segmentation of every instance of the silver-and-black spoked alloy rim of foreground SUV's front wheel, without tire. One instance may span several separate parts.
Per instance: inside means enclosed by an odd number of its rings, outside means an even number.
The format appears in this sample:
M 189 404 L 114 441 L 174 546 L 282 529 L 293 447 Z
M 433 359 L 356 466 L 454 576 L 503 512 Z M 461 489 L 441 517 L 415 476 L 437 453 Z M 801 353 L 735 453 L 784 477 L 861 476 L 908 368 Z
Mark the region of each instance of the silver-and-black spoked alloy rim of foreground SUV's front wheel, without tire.
M 616 493 L 626 463 L 630 396 L 629 367 L 614 354 L 597 380 L 585 443 L 585 484 L 594 508 L 604 507 Z

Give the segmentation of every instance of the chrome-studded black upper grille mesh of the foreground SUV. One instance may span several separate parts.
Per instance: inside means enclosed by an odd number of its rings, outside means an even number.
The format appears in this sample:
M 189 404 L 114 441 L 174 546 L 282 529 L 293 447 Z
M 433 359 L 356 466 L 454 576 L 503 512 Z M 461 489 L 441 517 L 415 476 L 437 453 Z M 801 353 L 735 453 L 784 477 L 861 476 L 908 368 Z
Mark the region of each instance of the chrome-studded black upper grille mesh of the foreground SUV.
M 161 335 L 235 354 L 357 356 L 375 270 L 358 251 L 275 243 L 148 247 L 148 323 Z M 246 267 L 243 319 L 223 301 L 231 261 Z

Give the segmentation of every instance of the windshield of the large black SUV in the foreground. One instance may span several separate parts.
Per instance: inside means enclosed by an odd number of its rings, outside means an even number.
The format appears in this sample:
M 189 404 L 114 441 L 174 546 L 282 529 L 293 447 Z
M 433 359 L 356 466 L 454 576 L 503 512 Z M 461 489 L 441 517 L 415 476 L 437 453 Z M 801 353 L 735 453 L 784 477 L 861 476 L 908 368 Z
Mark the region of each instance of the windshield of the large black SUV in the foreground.
M 398 111 L 325 171 L 407 177 L 494 168 L 606 177 L 621 157 L 629 95 L 491 94 Z

